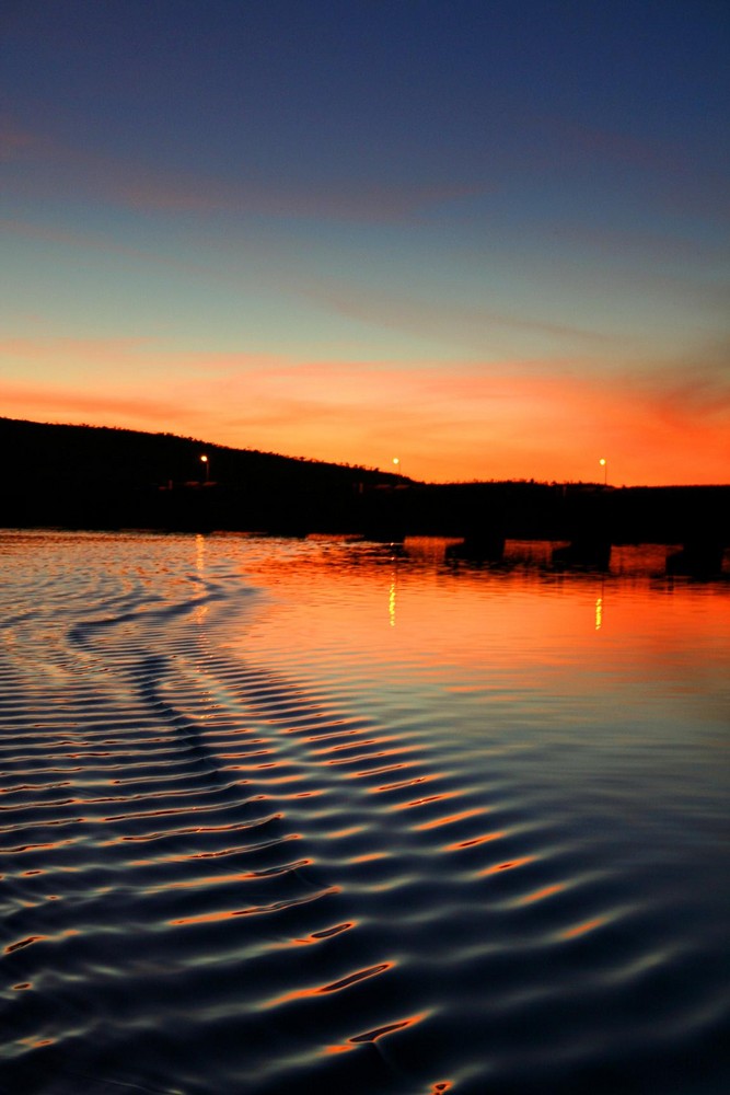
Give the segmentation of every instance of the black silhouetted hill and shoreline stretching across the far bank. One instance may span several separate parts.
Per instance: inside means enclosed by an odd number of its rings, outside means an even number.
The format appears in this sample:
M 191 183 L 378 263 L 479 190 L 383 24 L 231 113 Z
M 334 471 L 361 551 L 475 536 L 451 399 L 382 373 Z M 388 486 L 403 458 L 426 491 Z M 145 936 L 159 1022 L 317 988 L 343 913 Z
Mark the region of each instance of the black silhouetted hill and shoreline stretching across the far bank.
M 0 418 L 0 526 L 362 533 L 465 538 L 476 556 L 506 537 L 730 545 L 730 486 L 428 484 L 393 472 L 210 445 L 172 434 Z M 208 457 L 207 464 L 200 457 Z

